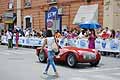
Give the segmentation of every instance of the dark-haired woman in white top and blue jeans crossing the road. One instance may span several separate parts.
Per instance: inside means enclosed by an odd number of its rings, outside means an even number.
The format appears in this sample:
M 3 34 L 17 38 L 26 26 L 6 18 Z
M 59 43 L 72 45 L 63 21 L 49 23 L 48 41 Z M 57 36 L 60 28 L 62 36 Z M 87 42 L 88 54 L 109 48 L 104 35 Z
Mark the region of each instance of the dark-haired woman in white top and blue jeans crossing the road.
M 52 37 L 52 31 L 51 30 L 47 30 L 46 38 L 44 40 L 44 43 L 43 43 L 43 46 L 42 46 L 40 52 L 42 52 L 42 50 L 45 47 L 45 45 L 48 46 L 47 67 L 46 67 L 46 69 L 45 69 L 43 74 L 47 74 L 50 65 L 52 65 L 52 68 L 53 68 L 53 70 L 54 70 L 54 72 L 56 74 L 56 77 L 58 77 L 58 73 L 57 73 L 57 70 L 56 70 L 56 65 L 55 65 L 55 62 L 54 62 L 54 55 L 55 55 L 55 53 L 52 51 L 52 44 L 54 42 L 55 42 L 55 38 Z

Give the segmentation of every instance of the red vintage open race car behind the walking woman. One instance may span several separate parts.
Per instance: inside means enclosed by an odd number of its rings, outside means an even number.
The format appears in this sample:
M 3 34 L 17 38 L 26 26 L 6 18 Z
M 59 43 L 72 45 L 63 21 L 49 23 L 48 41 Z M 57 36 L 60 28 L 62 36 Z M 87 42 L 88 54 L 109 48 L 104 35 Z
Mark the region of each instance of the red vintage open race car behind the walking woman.
M 36 49 L 36 54 L 40 62 L 47 61 L 47 48 L 40 53 L 40 48 Z M 60 48 L 60 52 L 55 56 L 55 61 L 67 63 L 69 67 L 75 67 L 77 63 L 90 63 L 91 66 L 99 64 L 101 59 L 100 53 L 95 49 L 83 49 L 77 47 L 66 46 Z

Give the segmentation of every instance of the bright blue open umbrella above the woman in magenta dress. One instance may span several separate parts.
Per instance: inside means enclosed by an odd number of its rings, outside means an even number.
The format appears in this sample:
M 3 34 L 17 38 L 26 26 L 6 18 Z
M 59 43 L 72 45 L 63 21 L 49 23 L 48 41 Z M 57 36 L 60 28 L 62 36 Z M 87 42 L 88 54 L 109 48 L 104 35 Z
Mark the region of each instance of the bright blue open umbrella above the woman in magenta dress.
M 86 21 L 79 24 L 80 28 L 85 29 L 98 29 L 101 25 L 98 22 Z

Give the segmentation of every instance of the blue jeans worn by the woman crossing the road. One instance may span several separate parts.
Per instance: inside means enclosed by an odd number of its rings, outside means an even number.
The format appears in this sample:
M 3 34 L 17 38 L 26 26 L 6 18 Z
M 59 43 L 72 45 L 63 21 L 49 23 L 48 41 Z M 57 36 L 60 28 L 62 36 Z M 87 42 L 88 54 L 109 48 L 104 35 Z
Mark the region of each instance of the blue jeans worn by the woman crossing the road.
M 54 72 L 56 72 L 55 62 L 54 62 L 54 52 L 48 51 L 48 62 L 45 71 L 47 72 L 50 65 L 52 65 Z

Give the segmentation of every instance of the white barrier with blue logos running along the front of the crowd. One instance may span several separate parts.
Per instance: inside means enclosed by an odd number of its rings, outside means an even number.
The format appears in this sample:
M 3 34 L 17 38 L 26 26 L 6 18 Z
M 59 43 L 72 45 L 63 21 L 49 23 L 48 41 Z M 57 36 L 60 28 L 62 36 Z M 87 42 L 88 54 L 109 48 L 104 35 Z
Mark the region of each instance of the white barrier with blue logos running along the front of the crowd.
M 7 37 L 1 37 L 2 43 L 8 43 Z M 23 46 L 42 46 L 43 39 L 37 37 L 20 37 L 19 44 Z M 15 37 L 13 37 L 13 44 L 15 44 Z M 60 39 L 59 41 L 60 46 L 72 45 L 79 48 L 88 48 L 88 40 L 87 39 Z M 100 39 L 97 38 L 95 41 L 95 48 L 100 51 L 107 51 L 107 52 L 120 52 L 120 40 L 118 39 Z

